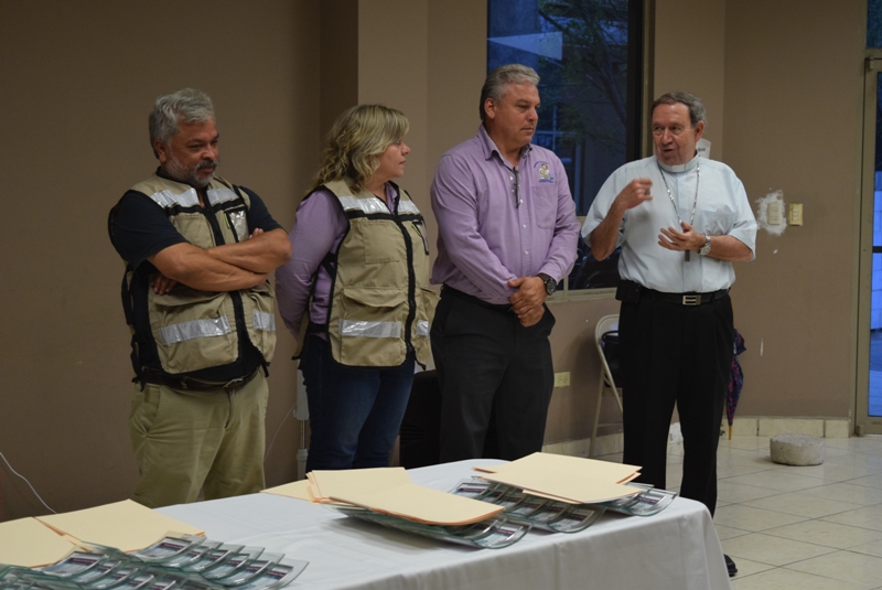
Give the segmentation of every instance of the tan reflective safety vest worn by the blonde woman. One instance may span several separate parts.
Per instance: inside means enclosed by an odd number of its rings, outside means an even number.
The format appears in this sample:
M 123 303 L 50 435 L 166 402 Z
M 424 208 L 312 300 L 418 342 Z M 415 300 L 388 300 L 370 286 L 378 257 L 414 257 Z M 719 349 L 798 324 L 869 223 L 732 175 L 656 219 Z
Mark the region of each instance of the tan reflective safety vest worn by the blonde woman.
M 392 183 L 398 191 L 398 186 Z M 438 294 L 429 287 L 426 226 L 406 191 L 396 211 L 366 190 L 329 182 L 348 221 L 332 272 L 327 335 L 334 360 L 349 366 L 398 366 L 413 350 L 426 364 Z

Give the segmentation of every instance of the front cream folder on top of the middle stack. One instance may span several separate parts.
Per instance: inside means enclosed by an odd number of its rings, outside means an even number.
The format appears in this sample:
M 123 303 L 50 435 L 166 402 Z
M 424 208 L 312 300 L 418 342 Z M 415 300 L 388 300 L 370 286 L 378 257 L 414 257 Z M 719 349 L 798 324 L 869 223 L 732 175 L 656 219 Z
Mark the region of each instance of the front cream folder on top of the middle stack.
M 381 492 L 351 490 L 334 500 L 370 508 L 428 525 L 466 525 L 503 512 L 503 506 L 456 496 L 416 484 L 404 484 Z

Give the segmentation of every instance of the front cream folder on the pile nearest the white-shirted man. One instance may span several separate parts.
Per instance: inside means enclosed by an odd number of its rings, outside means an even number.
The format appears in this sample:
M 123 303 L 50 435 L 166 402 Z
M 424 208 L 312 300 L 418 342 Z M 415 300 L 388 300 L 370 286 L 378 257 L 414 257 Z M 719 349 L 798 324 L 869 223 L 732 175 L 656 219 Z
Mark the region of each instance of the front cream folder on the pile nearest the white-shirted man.
M 639 487 L 604 482 L 581 472 L 535 473 L 520 470 L 485 473 L 483 479 L 519 487 L 527 493 L 540 492 L 580 504 L 607 502 L 631 496 L 641 492 Z

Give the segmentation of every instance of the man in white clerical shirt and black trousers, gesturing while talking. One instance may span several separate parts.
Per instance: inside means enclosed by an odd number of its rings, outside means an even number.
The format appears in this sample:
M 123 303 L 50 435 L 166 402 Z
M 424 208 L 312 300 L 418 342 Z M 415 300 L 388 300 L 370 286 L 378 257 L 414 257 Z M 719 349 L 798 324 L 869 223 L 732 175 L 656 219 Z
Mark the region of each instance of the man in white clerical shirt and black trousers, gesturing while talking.
M 697 154 L 704 106 L 688 93 L 653 103 L 655 155 L 601 187 L 582 227 L 598 260 L 621 246 L 619 319 L 624 462 L 665 487 L 676 403 L 684 437 L 680 495 L 717 506 L 717 444 L 732 363 L 734 260 L 754 257 L 756 221 L 728 165 Z M 652 192 L 650 192 L 652 187 Z M 730 576 L 736 571 L 727 557 Z

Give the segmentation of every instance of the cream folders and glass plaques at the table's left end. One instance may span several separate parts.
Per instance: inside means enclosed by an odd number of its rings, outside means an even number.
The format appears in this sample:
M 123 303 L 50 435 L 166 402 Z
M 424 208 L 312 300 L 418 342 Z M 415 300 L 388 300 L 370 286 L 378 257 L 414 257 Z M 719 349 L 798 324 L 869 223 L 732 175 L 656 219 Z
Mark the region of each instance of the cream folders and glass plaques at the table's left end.
M 2 523 L 0 590 L 273 590 L 308 565 L 200 533 L 131 501 Z

